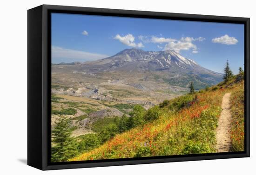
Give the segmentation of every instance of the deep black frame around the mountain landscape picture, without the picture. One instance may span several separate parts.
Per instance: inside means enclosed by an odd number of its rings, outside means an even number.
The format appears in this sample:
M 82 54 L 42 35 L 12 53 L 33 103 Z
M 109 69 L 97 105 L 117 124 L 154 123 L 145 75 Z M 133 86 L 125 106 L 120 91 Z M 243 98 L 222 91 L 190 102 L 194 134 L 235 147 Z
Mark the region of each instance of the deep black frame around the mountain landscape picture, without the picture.
M 244 24 L 245 151 L 50 162 L 51 12 Z M 41 5 L 27 11 L 27 164 L 41 170 L 249 157 L 249 18 Z

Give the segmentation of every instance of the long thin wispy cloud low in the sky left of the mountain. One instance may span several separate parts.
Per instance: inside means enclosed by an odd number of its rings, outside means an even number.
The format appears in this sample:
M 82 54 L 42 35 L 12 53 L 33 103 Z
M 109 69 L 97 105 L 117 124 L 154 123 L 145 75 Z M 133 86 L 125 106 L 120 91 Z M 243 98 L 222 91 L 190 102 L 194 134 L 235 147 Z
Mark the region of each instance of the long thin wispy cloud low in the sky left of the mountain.
M 52 46 L 52 59 L 65 59 L 73 62 L 74 60 L 93 61 L 101 58 L 106 58 L 107 55 L 90 53 L 80 50 L 65 49 L 57 46 Z

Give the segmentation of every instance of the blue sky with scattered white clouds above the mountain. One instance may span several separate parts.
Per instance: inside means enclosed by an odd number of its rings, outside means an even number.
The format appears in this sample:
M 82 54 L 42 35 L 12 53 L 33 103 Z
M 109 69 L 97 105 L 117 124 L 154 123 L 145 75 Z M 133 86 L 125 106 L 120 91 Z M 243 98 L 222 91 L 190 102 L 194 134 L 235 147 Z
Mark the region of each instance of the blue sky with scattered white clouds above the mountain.
M 241 24 L 52 14 L 52 62 L 85 62 L 137 47 L 172 49 L 203 67 L 223 72 L 227 59 L 237 74 L 244 63 Z

